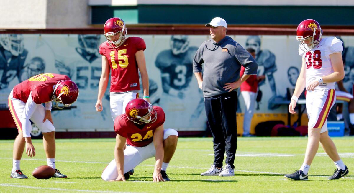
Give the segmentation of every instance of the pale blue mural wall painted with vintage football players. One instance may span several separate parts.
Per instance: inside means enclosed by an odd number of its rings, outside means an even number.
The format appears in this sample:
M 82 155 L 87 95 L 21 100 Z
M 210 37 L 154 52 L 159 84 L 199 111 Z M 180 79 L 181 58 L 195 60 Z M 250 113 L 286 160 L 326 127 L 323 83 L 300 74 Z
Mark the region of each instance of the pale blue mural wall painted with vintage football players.
M 134 35 L 130 35 L 134 36 Z M 202 35 L 139 35 L 147 45 L 144 51 L 149 74 L 150 98 L 166 113 L 166 128 L 199 131 L 206 128 L 202 92 L 192 72 L 192 61 L 200 44 L 210 38 Z M 256 50 L 262 99 L 255 113 L 286 113 L 287 105 L 272 102 L 287 99 L 295 87 L 301 68 L 298 41 L 293 36 L 230 36 L 244 48 Z M 352 92 L 354 82 L 354 36 L 340 37 L 346 63 L 344 85 Z M 0 34 L 0 108 L 19 82 L 39 73 L 69 75 L 79 87 L 77 108 L 53 111 L 57 131 L 113 131 L 109 110 L 109 89 L 104 109 L 95 109 L 102 59 L 98 53 L 103 35 Z M 108 86 L 109 87 L 109 86 Z M 142 94 L 142 91 L 141 91 Z M 238 112 L 245 105 L 239 95 Z

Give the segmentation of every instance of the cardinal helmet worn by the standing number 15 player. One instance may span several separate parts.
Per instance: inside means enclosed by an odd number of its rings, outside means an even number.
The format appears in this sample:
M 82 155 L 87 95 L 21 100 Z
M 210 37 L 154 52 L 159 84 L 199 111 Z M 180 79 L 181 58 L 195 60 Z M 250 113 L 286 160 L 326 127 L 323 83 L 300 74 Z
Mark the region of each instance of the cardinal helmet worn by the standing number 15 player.
M 119 34 L 118 40 L 112 40 L 112 36 Z M 108 44 L 112 48 L 121 46 L 127 35 L 127 28 L 122 19 L 110 18 L 104 24 L 104 36 L 107 38 Z

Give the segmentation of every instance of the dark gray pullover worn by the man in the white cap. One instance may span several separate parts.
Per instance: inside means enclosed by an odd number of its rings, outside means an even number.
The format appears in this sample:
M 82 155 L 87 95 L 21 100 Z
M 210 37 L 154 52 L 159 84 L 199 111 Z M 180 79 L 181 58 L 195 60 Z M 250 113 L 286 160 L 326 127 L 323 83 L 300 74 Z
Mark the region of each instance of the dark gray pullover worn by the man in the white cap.
M 193 73 L 203 72 L 203 96 L 212 97 L 227 93 L 226 83 L 240 79 L 241 65 L 245 75 L 257 74 L 257 62 L 239 43 L 226 36 L 220 42 L 212 39 L 201 44 L 193 59 Z M 233 90 L 235 91 L 235 90 Z

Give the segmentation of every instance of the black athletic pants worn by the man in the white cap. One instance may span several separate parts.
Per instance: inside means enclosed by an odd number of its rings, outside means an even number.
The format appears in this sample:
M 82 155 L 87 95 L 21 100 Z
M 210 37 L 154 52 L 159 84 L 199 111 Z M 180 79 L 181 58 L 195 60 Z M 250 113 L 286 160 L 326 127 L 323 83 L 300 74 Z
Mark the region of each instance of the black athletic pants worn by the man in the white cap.
M 234 169 L 237 148 L 237 92 L 205 98 L 205 111 L 213 135 L 214 164 L 222 167 L 226 151 L 225 163 Z

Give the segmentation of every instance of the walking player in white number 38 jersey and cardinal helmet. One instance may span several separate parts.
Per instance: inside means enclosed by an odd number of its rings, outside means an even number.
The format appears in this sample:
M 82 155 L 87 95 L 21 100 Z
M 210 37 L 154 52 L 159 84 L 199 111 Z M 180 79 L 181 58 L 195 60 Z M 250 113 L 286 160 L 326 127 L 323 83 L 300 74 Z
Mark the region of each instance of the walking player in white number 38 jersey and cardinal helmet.
M 339 179 L 349 173 L 327 130 L 327 116 L 336 101 L 335 82 L 344 78 L 342 41 L 336 37 L 322 38 L 321 35 L 320 24 L 313 19 L 304 20 L 297 27 L 296 39 L 300 41 L 302 67 L 289 104 L 289 112 L 296 113 L 294 109 L 297 100 L 306 89 L 309 122 L 304 163 L 293 174 L 285 175 L 290 180 L 308 180 L 308 171 L 319 143 L 337 167 L 329 180 Z

